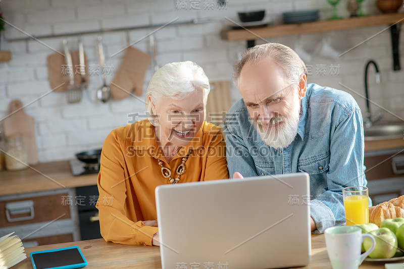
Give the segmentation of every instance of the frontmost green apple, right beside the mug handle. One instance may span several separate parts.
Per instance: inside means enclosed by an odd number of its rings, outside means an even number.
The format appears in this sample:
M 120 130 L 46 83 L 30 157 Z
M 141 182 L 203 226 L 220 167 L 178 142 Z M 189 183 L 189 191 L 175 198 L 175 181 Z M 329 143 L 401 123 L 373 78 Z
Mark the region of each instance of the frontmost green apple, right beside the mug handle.
M 398 240 L 395 234 L 388 228 L 379 228 L 369 232 L 376 239 L 375 249 L 369 254 L 369 258 L 391 258 L 397 251 Z M 365 238 L 363 240 L 365 250 L 372 246 L 372 240 Z

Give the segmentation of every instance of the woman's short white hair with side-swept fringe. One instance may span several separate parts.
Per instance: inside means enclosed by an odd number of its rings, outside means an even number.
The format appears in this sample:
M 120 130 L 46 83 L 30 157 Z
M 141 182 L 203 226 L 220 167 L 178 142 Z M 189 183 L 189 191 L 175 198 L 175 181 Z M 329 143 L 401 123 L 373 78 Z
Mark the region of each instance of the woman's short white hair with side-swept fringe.
M 162 97 L 181 100 L 191 92 L 201 90 L 204 93 L 205 106 L 210 89 L 208 77 L 197 64 L 190 61 L 167 64 L 156 71 L 147 86 L 145 96 L 147 118 L 151 124 L 157 124 L 157 115 L 151 110 L 149 96 L 156 105 Z

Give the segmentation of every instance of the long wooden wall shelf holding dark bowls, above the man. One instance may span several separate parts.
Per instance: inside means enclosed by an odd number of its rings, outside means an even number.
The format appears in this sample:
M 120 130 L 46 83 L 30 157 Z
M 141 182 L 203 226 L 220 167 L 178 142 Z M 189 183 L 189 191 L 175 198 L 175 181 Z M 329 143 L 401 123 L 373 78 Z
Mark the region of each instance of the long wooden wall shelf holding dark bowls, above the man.
M 295 34 L 319 33 L 396 23 L 404 23 L 404 13 L 372 15 L 367 17 L 357 17 L 334 21 L 283 24 L 260 28 L 250 28 L 248 29 L 249 31 L 245 29 L 222 30 L 221 36 L 222 39 L 228 41 L 254 40 L 258 39 L 259 37 L 268 38 Z

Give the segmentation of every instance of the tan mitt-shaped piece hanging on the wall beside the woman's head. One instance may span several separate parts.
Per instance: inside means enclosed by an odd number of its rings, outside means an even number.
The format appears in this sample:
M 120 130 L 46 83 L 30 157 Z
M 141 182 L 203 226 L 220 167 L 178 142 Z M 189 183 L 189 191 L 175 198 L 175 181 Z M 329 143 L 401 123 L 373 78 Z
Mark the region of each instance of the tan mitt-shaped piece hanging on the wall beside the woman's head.
M 110 85 L 111 95 L 120 100 L 128 97 L 133 91 L 135 95 L 143 93 L 144 74 L 151 56 L 132 46 L 126 49 L 125 57 Z

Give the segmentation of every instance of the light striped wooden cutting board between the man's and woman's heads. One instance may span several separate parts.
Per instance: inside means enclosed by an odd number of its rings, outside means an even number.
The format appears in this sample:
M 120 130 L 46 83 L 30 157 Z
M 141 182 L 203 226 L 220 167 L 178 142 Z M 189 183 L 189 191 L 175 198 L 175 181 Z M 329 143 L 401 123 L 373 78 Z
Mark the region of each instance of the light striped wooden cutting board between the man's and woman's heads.
M 211 91 L 206 104 L 206 121 L 217 126 L 223 125 L 224 117 L 231 107 L 230 82 L 211 82 Z

